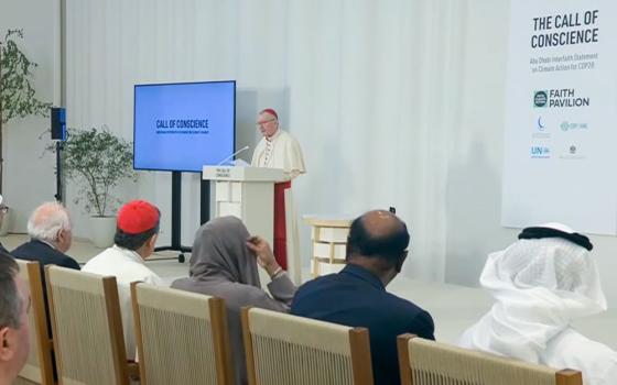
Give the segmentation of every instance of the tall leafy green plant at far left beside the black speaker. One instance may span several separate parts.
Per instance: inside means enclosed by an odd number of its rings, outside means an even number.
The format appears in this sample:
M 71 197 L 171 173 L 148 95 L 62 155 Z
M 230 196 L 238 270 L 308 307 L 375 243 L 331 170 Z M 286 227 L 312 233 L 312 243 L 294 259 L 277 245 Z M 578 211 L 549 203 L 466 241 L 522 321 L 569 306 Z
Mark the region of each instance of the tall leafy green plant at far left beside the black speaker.
M 51 103 L 34 96 L 33 70 L 37 65 L 23 54 L 17 38 L 23 38 L 22 30 L 8 30 L 4 40 L 0 41 L 0 195 L 3 182 L 4 127 L 15 118 L 31 114 L 48 117 L 51 107 Z M 0 233 L 7 232 L 9 213 L 7 207 Z

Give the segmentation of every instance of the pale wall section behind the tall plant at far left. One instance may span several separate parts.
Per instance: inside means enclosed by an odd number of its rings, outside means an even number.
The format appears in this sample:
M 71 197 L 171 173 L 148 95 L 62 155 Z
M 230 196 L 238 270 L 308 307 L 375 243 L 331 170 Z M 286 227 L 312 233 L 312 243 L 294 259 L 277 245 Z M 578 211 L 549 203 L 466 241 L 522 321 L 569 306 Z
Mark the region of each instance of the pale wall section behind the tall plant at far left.
M 36 97 L 59 102 L 59 1 L 21 0 L 0 3 L 0 34 L 23 29 L 18 41 L 23 53 L 39 64 L 34 72 Z M 50 139 L 50 119 L 15 119 L 4 128 L 6 204 L 11 208 L 10 231 L 24 232 L 32 209 L 54 200 L 55 156 L 44 153 Z

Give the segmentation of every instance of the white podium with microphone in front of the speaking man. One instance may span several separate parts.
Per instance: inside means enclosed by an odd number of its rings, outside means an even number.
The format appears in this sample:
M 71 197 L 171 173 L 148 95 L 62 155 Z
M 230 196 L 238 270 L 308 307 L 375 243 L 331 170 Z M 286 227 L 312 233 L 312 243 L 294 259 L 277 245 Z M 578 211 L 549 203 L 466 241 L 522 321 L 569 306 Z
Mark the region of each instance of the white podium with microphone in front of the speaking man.
M 251 234 L 273 244 L 274 184 L 282 169 L 238 166 L 204 166 L 203 178 L 215 182 L 214 217 L 238 217 Z

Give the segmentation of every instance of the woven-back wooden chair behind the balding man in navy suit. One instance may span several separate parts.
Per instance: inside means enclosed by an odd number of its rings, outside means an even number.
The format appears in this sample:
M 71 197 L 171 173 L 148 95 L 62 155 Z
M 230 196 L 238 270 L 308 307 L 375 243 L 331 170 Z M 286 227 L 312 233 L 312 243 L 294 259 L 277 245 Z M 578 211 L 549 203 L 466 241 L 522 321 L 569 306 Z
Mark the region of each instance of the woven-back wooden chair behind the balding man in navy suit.
M 242 308 L 250 385 L 372 384 L 368 330 Z

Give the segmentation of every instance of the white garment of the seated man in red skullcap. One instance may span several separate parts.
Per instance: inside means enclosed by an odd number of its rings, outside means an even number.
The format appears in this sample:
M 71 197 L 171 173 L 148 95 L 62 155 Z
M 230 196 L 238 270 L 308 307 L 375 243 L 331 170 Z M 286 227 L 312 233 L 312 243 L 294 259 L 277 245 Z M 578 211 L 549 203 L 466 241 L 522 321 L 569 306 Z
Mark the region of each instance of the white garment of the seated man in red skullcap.
M 120 311 L 122 314 L 122 329 L 127 359 L 137 356 L 136 339 L 133 332 L 133 309 L 131 304 L 131 283 L 141 280 L 147 284 L 166 286 L 164 282 L 145 266 L 143 258 L 134 251 L 113 245 L 93 257 L 83 272 L 98 275 L 112 275 L 118 284 Z

